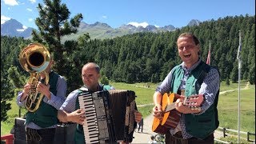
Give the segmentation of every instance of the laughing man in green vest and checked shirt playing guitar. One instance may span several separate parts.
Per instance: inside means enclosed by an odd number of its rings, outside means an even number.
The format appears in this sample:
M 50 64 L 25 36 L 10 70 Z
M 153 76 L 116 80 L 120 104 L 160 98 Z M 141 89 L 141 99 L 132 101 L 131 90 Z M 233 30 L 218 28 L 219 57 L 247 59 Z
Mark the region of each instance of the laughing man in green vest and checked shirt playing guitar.
M 218 128 L 218 70 L 199 58 L 199 41 L 194 34 L 181 34 L 177 46 L 183 62 L 175 66 L 156 89 L 153 96 L 154 118 L 163 126 L 162 133 L 166 133 L 166 143 L 214 144 L 214 130 Z M 176 97 L 175 94 L 180 96 Z M 203 95 L 203 102 L 197 109 L 191 109 L 184 101 L 197 94 Z M 162 101 L 166 99 L 170 102 L 163 106 Z M 171 100 L 174 110 L 168 111 L 169 115 L 174 115 L 174 119 L 179 120 L 177 126 L 166 127 L 162 120 L 167 112 L 166 107 L 171 107 Z

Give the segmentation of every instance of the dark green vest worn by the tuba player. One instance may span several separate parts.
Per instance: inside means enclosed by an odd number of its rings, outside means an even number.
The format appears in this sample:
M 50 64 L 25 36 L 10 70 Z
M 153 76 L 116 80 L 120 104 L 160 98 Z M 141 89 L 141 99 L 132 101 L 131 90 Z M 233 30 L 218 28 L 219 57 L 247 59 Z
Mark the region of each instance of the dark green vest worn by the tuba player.
M 58 82 L 59 75 L 51 71 L 49 74 L 49 84 L 50 92 L 54 95 L 57 94 L 56 86 Z M 44 96 L 45 97 L 45 96 Z M 34 122 L 36 125 L 46 128 L 49 126 L 54 126 L 58 122 L 57 118 L 58 110 L 54 106 L 50 106 L 46 102 L 41 101 L 38 110 L 31 113 L 28 111 L 26 113 L 26 124 Z

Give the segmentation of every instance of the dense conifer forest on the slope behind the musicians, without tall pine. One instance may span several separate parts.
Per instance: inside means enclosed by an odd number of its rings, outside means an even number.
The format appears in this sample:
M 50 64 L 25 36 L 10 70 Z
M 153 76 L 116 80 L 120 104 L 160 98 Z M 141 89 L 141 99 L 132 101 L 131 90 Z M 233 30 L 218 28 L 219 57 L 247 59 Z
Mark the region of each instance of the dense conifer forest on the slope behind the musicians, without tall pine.
M 185 26 L 173 32 L 137 33 L 112 39 L 88 39 L 73 46 L 70 54 L 63 54 L 59 74 L 67 79 L 80 78 L 80 70 L 86 62 L 96 62 L 102 68 L 102 75 L 115 82 L 161 82 L 170 70 L 181 63 L 178 57 L 176 41 L 179 34 L 194 33 L 200 40 L 201 58 L 206 61 L 211 43 L 211 63 L 217 66 L 222 81 L 238 81 L 238 31 L 242 32 L 242 79 L 254 84 L 255 78 L 255 17 L 226 17 L 217 21 L 202 22 L 199 26 Z M 2 71 L 17 68 L 18 75 L 26 75 L 18 62 L 22 46 L 33 42 L 23 38 L 2 36 Z M 57 58 L 54 58 L 58 61 Z M 76 72 L 65 69 L 65 65 L 74 66 Z M 12 67 L 14 66 L 14 67 Z M 66 73 L 68 71 L 68 73 Z M 76 78 L 77 79 L 77 78 Z M 77 86 L 82 83 L 78 81 Z M 72 82 L 73 83 L 73 82 Z

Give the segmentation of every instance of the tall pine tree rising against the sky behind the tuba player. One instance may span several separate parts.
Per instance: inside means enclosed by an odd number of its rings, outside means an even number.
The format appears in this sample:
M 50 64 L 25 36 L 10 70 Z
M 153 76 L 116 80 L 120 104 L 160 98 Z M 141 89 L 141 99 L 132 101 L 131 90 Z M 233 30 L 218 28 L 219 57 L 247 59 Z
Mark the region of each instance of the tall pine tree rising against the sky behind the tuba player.
M 32 31 L 33 40 L 48 47 L 51 56 L 54 57 L 54 70 L 58 74 L 72 78 L 69 73 L 77 65 L 74 64 L 72 55 L 78 50 L 78 42 L 62 42 L 61 38 L 78 32 L 82 14 L 70 18 L 70 11 L 66 4 L 61 4 L 61 0 L 43 0 L 43 2 L 45 6 L 38 4 L 39 17 L 35 19 L 35 24 L 39 32 Z M 67 84 L 70 84 L 68 91 L 77 87 L 71 85 L 71 82 L 72 80 L 68 79 Z

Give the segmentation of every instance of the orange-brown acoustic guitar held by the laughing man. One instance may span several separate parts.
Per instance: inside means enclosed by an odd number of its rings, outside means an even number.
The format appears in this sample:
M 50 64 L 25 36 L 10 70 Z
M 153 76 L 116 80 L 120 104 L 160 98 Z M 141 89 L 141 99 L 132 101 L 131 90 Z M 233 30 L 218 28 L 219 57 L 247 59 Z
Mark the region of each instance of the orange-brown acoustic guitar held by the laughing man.
M 152 131 L 158 134 L 166 134 L 170 129 L 176 128 L 178 125 L 181 113 L 175 110 L 175 101 L 177 98 L 183 99 L 183 105 L 189 106 L 192 110 L 198 109 L 198 106 L 202 105 L 203 95 L 197 94 L 190 97 L 184 97 L 179 94 L 163 94 L 162 96 L 162 108 L 163 118 L 162 120 L 155 118 L 153 119 Z

